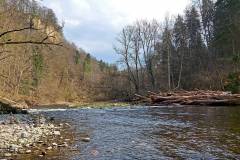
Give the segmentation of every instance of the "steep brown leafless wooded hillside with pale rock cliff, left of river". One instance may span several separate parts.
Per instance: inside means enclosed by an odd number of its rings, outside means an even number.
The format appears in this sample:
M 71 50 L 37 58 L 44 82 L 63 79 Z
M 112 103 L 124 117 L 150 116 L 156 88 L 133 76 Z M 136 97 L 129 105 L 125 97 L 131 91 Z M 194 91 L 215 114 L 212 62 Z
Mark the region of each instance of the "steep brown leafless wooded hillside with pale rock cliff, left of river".
M 1 0 L 0 19 L 2 96 L 42 103 L 112 98 L 108 81 L 114 83 L 116 67 L 65 40 L 51 9 Z

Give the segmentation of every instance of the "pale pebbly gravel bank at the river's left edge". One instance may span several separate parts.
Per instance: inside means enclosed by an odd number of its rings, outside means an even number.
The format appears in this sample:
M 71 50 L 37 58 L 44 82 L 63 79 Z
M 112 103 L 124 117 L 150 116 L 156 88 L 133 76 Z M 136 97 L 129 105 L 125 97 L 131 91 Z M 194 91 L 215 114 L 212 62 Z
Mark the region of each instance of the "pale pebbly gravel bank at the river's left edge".
M 62 131 L 69 124 L 54 124 L 40 114 L 0 115 L 0 159 L 18 156 L 45 156 L 59 147 L 68 147 L 72 137 Z

